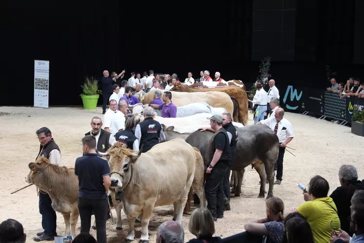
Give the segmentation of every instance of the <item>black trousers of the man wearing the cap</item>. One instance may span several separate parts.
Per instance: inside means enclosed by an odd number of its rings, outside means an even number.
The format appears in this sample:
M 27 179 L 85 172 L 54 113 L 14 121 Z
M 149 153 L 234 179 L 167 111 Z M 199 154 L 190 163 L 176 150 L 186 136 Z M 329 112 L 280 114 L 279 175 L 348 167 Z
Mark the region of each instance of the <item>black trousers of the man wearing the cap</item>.
M 207 208 L 210 210 L 212 217 L 221 217 L 224 215 L 224 190 L 223 181 L 226 174 L 226 168 L 213 168 L 211 173 L 206 177 L 205 192 L 207 199 Z

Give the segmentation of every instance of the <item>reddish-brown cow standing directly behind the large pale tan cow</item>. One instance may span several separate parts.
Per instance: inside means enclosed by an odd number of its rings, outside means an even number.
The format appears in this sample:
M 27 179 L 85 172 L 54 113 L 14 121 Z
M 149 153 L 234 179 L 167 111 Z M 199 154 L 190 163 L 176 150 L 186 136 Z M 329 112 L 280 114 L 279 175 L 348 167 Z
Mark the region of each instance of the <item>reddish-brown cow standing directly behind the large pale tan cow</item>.
M 193 84 L 195 85 L 195 84 Z M 230 99 L 234 102 L 232 114 L 233 121 L 241 122 L 243 124 L 248 124 L 248 95 L 244 88 L 237 86 L 218 86 L 215 88 L 197 88 L 193 85 L 183 85 L 182 83 L 176 83 L 173 85 L 172 90 L 177 92 L 211 92 L 218 91 L 226 93 L 230 96 Z

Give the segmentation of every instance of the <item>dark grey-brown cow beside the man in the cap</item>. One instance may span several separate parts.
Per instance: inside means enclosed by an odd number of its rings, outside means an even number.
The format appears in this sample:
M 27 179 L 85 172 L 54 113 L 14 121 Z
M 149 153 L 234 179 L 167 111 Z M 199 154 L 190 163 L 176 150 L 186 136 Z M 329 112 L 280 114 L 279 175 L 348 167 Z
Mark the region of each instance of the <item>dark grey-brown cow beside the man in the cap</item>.
M 251 125 L 237 128 L 238 143 L 236 145 L 236 160 L 231 170 L 237 172 L 237 187 L 233 192 L 236 197 L 240 196 L 241 184 L 244 176 L 244 168 L 256 160 L 264 163 L 266 173 L 259 173 L 260 192 L 258 198 L 265 197 L 266 180 L 268 176 L 269 190 L 267 198 L 273 197 L 274 163 L 278 159 L 279 141 L 277 135 L 266 125 Z M 186 142 L 200 150 L 205 167 L 210 161 L 206 160 L 206 152 L 214 133 L 211 131 L 194 131 Z

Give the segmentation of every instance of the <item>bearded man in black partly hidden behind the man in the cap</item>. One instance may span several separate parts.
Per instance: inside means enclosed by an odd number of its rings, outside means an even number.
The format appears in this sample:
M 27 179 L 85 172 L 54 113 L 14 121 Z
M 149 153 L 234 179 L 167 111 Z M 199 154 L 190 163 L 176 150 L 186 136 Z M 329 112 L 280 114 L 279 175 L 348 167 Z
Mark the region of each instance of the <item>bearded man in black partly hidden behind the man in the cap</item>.
M 225 128 L 226 133 L 229 137 L 230 142 L 230 150 L 231 150 L 231 162 L 228 170 L 226 171 L 224 181 L 223 181 L 223 189 L 225 194 L 225 206 L 224 210 L 230 210 L 230 172 L 231 172 L 231 166 L 235 162 L 235 151 L 236 151 L 236 144 L 238 143 L 238 132 L 236 131 L 235 126 L 231 122 L 231 114 L 230 113 L 223 113 L 222 114 L 222 124 L 223 128 Z M 202 131 L 209 130 L 211 132 L 216 132 L 211 127 L 201 127 L 199 128 Z

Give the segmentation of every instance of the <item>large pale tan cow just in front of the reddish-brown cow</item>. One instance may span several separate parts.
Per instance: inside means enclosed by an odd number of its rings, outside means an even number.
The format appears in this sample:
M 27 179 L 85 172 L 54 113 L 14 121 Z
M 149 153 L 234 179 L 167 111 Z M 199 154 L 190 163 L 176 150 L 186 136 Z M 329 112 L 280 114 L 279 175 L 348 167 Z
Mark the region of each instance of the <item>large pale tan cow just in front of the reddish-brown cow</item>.
M 161 90 L 162 93 L 164 92 Z M 149 104 L 153 101 L 153 95 L 155 90 L 149 91 L 145 95 L 138 96 L 139 101 L 143 104 Z M 230 114 L 233 113 L 234 105 L 230 99 L 230 96 L 223 92 L 204 92 L 204 93 L 184 93 L 184 92 L 173 92 L 172 91 L 172 102 L 177 106 L 184 106 L 187 104 L 205 102 L 212 107 L 225 108 Z M 248 102 L 248 101 L 247 101 Z

